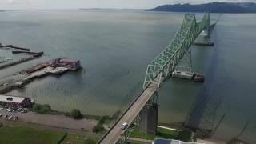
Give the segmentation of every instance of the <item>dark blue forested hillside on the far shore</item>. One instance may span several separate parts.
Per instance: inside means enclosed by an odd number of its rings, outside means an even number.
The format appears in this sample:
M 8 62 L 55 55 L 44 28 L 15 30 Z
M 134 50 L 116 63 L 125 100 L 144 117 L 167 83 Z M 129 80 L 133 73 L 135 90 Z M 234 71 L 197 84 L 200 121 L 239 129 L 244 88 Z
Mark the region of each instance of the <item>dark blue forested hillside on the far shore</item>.
M 210 12 L 210 13 L 256 13 L 256 3 L 228 3 L 213 2 L 206 4 L 190 5 L 175 4 L 158 6 L 148 11 L 172 11 L 172 12 Z

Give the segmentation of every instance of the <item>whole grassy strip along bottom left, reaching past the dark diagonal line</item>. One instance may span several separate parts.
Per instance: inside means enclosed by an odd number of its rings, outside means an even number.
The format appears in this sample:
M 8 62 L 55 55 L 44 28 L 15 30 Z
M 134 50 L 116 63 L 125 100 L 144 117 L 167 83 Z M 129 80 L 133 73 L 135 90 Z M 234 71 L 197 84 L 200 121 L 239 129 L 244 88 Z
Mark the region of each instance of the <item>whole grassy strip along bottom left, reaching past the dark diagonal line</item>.
M 1 126 L 0 143 L 8 144 L 45 144 L 45 143 L 96 143 L 98 138 L 88 138 L 78 134 L 66 134 L 60 131 L 29 128 L 25 126 Z

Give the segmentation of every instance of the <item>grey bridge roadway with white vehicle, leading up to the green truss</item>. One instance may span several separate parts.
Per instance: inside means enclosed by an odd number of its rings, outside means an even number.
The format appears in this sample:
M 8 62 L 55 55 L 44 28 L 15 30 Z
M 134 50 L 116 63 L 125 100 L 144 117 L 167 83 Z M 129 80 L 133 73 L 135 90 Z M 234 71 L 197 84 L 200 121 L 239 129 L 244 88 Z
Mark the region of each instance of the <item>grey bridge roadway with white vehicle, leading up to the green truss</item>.
M 118 142 L 118 139 L 121 138 L 122 134 L 126 131 L 121 129 L 122 123 L 127 122 L 130 126 L 157 89 L 158 87 L 153 83 L 151 83 L 150 86 L 147 86 L 146 90 L 134 100 L 126 112 L 122 114 L 114 126 L 111 127 L 108 133 L 105 134 L 98 143 L 114 144 Z

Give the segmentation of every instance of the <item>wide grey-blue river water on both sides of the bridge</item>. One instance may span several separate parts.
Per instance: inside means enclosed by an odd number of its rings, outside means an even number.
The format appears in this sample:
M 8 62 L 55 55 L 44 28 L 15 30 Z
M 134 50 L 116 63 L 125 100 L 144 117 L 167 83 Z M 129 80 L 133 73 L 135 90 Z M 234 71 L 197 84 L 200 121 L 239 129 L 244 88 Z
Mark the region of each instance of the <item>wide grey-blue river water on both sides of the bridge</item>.
M 0 41 L 45 55 L 1 70 L 0 77 L 52 58 L 77 58 L 82 71 L 37 79 L 8 94 L 54 110 L 112 115 L 140 93 L 147 64 L 174 37 L 183 17 L 128 10 L 6 11 L 0 13 Z M 212 21 L 217 18 L 211 14 Z M 234 138 L 249 122 L 238 138 L 256 143 L 255 23 L 255 14 L 222 14 L 211 38 L 215 46 L 192 46 L 193 68 L 206 74 L 206 82 L 166 81 L 158 95 L 159 123 L 185 122 L 192 112 L 201 125 L 214 119 L 215 126 L 226 114 L 215 138 Z

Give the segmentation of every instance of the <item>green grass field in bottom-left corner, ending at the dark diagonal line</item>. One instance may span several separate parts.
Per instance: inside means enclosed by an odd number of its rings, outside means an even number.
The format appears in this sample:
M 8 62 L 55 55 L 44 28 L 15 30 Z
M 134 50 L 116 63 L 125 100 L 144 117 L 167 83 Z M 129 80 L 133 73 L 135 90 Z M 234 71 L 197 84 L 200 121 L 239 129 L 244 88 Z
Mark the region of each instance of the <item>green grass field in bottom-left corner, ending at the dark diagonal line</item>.
M 27 128 L 23 126 L 0 127 L 0 143 L 5 144 L 45 144 L 58 143 L 64 133 L 51 130 Z

